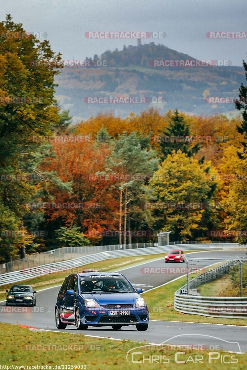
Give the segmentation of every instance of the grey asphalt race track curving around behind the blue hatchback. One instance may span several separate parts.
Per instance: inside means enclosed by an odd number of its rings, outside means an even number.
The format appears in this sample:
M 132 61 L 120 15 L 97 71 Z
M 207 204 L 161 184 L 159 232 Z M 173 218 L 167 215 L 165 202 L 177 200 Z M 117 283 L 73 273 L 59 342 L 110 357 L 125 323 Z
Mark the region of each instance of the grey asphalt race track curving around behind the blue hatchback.
M 188 253 L 191 257 L 211 257 L 231 258 L 236 255 L 240 257 L 246 256 L 245 250 L 217 250 L 207 252 Z M 155 256 L 154 256 L 155 257 Z M 195 261 L 191 268 L 202 268 L 217 261 Z M 132 268 L 119 270 L 130 279 L 133 285 L 137 288 L 142 288 L 144 291 L 157 287 L 166 282 L 169 282 L 176 277 L 184 275 L 178 273 L 177 269 L 186 266 L 185 263 L 164 263 L 164 259 L 146 262 L 142 265 L 134 266 Z M 170 273 L 143 273 L 143 268 L 175 268 L 171 269 Z M 65 275 L 65 274 L 64 274 Z M 37 293 L 37 306 L 30 307 L 30 312 L 19 313 L 5 311 L 5 302 L 0 303 L 0 321 L 12 324 L 22 324 L 36 327 L 39 329 L 57 331 L 54 318 L 54 306 L 57 300 L 57 293 L 59 287 L 54 287 L 42 290 Z M 143 296 L 145 298 L 145 295 Z M 8 307 L 9 308 L 9 307 Z M 18 308 L 18 307 L 17 307 Z M 163 343 L 167 341 L 169 344 L 211 344 L 220 345 L 220 348 L 231 351 L 247 351 L 247 328 L 245 326 L 231 326 L 218 324 L 202 324 L 202 323 L 186 323 L 186 322 L 170 322 L 170 321 L 155 321 L 150 320 L 149 327 L 146 332 L 138 332 L 135 326 L 122 327 L 121 330 L 113 331 L 111 327 L 101 327 L 97 329 L 90 327 L 88 330 L 79 332 L 75 326 L 67 326 L 67 329 L 61 330 L 64 332 L 71 332 L 75 334 L 87 334 L 98 337 L 109 337 L 116 339 L 130 339 L 136 341 L 143 341 L 146 339 L 149 343 Z M 184 335 L 185 334 L 185 335 Z M 174 339 L 171 339 L 178 336 Z M 224 342 L 225 341 L 225 342 Z M 237 343 L 228 343 L 237 342 Z M 133 346 L 134 347 L 134 346 Z M 212 347 L 213 349 L 213 347 Z

